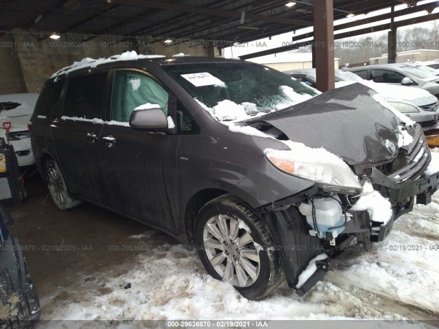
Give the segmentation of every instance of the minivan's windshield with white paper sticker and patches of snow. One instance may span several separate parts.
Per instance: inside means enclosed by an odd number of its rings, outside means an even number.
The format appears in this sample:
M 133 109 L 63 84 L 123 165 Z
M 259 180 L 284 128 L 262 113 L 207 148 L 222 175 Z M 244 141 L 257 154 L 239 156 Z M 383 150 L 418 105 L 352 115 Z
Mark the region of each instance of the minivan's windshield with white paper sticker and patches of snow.
M 318 95 L 279 71 L 248 62 L 173 64 L 163 69 L 219 121 L 248 119 Z

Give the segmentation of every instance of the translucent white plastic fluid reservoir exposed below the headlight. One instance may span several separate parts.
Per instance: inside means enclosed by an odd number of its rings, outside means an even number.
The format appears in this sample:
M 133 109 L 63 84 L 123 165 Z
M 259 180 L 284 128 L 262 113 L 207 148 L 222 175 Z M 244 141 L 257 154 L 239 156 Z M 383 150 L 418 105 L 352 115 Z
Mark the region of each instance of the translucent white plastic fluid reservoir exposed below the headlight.
M 336 197 L 338 199 L 338 197 Z M 299 206 L 299 211 L 302 215 L 307 217 L 307 223 L 314 228 L 314 231 L 317 231 L 322 238 L 326 238 L 327 232 L 331 233 L 335 238 L 343 232 L 344 227 L 335 228 L 330 230 L 334 226 L 340 226 L 344 223 L 344 215 L 342 212 L 342 207 L 340 204 L 331 199 L 329 197 L 325 197 L 323 199 L 313 199 L 314 207 L 316 208 L 316 223 L 317 227 L 315 227 L 313 223 L 312 216 L 312 204 L 308 201 L 308 204 L 301 203 Z M 349 220 L 349 217 L 348 217 Z M 335 243 L 335 239 L 331 241 L 331 244 Z

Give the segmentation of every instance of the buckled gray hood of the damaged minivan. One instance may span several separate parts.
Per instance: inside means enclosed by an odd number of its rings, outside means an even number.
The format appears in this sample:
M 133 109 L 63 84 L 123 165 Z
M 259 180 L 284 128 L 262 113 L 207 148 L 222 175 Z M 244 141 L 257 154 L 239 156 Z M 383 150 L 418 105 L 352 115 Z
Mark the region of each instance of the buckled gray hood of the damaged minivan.
M 375 94 L 356 83 L 244 122 L 268 123 L 289 140 L 323 147 L 351 165 L 391 160 L 398 151 L 399 120 L 372 98 Z

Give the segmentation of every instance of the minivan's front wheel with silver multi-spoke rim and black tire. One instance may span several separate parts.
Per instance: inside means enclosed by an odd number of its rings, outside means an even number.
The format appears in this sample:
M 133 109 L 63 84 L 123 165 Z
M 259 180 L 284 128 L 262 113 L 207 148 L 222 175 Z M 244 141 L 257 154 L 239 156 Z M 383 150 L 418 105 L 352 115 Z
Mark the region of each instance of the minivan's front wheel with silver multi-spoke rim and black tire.
M 195 243 L 206 271 L 248 300 L 261 300 L 284 278 L 268 227 L 237 197 L 217 197 L 200 210 Z

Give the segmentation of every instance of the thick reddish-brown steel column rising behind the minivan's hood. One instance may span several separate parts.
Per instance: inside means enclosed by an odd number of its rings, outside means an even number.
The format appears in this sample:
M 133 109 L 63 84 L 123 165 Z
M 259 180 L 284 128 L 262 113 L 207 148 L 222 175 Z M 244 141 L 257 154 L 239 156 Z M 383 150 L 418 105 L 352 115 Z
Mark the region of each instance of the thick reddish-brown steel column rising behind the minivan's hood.
M 313 1 L 313 8 L 317 89 L 324 92 L 335 84 L 333 0 Z

